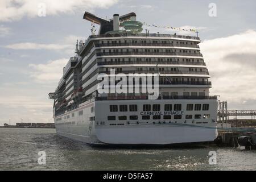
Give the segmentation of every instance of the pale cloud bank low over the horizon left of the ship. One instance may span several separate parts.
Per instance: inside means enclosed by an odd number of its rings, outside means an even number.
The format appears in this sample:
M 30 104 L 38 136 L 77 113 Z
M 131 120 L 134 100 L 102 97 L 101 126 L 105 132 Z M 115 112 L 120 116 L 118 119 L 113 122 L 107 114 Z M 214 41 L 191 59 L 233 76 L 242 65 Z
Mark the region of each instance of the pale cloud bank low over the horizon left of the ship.
M 44 88 L 35 82 L 6 82 L 0 89 L 0 125 L 20 122 L 49 122 L 52 118 L 52 101 L 47 94 L 55 89 Z M 42 113 L 39 116 L 38 113 Z

